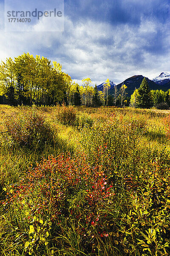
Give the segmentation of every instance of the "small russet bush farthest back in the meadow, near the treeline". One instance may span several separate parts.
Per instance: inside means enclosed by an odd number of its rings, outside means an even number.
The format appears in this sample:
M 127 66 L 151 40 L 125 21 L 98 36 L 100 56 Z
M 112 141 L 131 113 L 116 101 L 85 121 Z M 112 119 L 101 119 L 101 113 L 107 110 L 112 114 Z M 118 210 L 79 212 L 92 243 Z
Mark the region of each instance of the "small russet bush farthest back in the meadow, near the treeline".
M 65 107 L 63 105 L 60 108 L 58 107 L 57 111 L 57 120 L 62 123 L 62 125 L 75 125 L 77 115 L 74 107 Z

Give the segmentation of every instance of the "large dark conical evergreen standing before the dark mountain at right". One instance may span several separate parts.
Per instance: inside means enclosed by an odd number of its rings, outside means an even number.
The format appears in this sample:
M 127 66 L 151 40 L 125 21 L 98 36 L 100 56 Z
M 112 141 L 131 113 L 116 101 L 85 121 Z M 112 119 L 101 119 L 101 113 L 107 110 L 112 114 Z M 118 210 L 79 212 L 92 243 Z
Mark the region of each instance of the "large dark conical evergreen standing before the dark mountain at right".
M 146 78 L 142 80 L 138 93 L 137 101 L 139 108 L 150 108 L 152 106 L 152 93 L 150 92 Z

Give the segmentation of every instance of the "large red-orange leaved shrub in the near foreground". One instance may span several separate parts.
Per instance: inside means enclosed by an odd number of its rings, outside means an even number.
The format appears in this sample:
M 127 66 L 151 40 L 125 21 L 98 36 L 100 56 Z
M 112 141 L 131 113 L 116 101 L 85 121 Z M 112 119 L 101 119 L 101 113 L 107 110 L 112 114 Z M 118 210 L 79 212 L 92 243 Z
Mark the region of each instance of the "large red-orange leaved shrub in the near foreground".
M 94 237 L 103 241 L 108 237 L 105 207 L 114 201 L 113 186 L 101 167 L 91 168 L 83 154 L 48 157 L 5 191 L 3 204 L 10 205 L 14 226 L 18 227 L 13 229 L 12 236 L 23 236 L 30 255 L 37 255 L 48 243 L 54 246 L 54 241 L 60 249 L 61 239 L 67 247 L 69 241 L 64 237 L 69 232 L 79 233 L 79 247 L 84 253 L 94 250 Z

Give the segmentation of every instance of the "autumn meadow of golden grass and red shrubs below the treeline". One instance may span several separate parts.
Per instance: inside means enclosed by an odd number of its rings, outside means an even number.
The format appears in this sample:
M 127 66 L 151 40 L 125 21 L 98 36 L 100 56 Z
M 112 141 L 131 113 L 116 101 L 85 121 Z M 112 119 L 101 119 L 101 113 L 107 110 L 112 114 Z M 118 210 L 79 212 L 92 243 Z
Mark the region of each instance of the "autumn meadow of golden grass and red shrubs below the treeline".
M 0 105 L 0 256 L 170 255 L 170 111 Z

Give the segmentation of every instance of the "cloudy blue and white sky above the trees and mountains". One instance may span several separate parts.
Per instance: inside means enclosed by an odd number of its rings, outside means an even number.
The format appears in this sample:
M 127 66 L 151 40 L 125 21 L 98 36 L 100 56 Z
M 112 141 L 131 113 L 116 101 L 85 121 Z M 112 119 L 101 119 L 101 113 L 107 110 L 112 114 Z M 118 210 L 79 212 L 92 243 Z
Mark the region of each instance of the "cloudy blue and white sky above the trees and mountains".
M 38 8 L 43 1 L 29 4 Z M 38 32 L 4 31 L 4 6 L 0 0 L 0 60 L 23 52 L 44 56 L 79 85 L 87 77 L 94 86 L 170 73 L 170 0 L 65 0 L 63 31 L 42 17 Z

